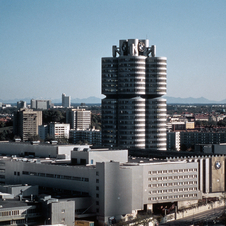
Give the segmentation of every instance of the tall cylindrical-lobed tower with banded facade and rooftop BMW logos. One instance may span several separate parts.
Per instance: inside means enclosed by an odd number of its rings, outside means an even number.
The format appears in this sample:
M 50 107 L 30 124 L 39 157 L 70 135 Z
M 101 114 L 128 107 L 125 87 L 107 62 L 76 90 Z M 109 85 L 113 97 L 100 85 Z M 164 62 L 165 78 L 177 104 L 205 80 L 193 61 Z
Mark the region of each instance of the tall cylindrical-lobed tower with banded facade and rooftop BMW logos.
M 120 40 L 102 58 L 102 143 L 166 150 L 166 57 L 149 40 Z

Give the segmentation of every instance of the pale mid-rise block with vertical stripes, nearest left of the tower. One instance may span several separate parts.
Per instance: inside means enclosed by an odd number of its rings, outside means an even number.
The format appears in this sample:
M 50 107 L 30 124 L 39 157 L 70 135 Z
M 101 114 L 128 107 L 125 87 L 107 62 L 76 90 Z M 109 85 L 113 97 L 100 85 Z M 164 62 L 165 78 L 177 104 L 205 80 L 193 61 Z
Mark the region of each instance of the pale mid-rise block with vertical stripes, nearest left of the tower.
M 70 124 L 70 129 L 89 129 L 91 125 L 91 111 L 85 109 L 69 109 L 66 112 L 66 123 Z

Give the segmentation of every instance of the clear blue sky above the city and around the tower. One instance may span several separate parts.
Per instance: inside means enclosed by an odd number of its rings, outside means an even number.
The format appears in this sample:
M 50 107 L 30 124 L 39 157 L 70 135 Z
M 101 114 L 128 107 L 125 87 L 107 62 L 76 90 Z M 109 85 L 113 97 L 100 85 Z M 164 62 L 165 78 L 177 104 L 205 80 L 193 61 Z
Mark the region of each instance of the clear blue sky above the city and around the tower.
M 101 95 L 101 57 L 149 39 L 167 96 L 226 98 L 225 0 L 0 0 L 0 99 Z

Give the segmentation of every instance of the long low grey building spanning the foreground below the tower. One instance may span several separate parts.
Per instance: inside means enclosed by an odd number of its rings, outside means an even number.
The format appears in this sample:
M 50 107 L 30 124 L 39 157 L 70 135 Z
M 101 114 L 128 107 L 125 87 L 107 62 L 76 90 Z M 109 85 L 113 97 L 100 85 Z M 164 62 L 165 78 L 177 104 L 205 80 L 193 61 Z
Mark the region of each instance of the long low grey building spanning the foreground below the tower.
M 25 146 L 35 157 L 4 156 L 7 150 L 17 154 Z M 180 210 L 198 203 L 205 194 L 225 191 L 223 155 L 128 158 L 127 150 L 64 145 L 62 151 L 71 153 L 67 164 L 53 157 L 57 146 L 0 143 L 0 183 L 38 185 L 46 191 L 80 196 L 83 207 L 79 212 L 75 202 L 77 217 L 96 216 L 103 225 L 109 225 L 110 217 L 118 222 L 122 215 L 136 217 L 139 210 L 153 212 L 159 205 L 175 205 Z

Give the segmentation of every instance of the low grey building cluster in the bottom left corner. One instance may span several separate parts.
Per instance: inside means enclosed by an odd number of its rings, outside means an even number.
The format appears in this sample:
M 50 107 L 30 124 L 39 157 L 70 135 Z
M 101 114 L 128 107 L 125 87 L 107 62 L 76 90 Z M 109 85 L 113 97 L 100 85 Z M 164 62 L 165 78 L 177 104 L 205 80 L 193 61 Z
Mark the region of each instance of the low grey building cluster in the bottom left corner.
M 0 196 L 0 225 L 74 225 L 74 200 L 39 195 L 27 184 L 0 185 Z

